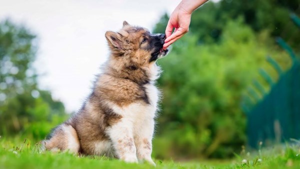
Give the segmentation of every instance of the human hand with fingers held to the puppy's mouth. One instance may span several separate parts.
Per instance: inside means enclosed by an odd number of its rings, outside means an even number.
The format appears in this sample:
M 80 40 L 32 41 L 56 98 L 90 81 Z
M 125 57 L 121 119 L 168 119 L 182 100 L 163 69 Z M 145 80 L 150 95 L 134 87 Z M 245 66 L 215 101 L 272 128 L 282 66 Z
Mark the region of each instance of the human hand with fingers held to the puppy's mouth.
M 175 10 L 170 15 L 165 29 L 166 39 L 164 40 L 163 49 L 166 49 L 170 44 L 172 44 L 174 41 L 188 32 L 190 17 L 191 12 L 186 11 L 181 6 L 181 3 L 175 8 Z M 172 33 L 173 28 L 175 29 Z

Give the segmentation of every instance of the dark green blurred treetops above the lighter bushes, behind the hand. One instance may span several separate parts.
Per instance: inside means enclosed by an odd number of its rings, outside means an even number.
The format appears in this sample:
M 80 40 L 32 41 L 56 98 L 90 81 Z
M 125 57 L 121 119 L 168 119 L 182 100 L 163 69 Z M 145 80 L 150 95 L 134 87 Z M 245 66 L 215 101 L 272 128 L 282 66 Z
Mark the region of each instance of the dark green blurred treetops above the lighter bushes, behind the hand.
M 298 49 L 300 34 L 289 19 L 291 12 L 300 16 L 300 0 L 208 1 L 192 13 L 189 30 L 197 36 L 198 43 L 218 42 L 224 25 L 242 16 L 255 32 L 267 29 L 272 37 L 281 36 Z M 154 32 L 164 32 L 167 21 L 168 15 L 162 15 Z

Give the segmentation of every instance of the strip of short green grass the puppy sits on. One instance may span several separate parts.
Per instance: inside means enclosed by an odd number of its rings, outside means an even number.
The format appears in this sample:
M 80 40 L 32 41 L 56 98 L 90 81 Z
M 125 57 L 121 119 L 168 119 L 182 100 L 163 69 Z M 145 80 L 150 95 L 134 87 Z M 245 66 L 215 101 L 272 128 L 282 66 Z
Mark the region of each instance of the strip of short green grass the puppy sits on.
M 38 145 L 24 140 L 0 138 L 0 168 L 300 168 L 299 147 L 259 149 L 253 155 L 241 152 L 230 160 L 193 160 L 174 162 L 155 160 L 147 163 L 125 163 L 101 156 L 76 156 L 67 152 L 41 152 Z

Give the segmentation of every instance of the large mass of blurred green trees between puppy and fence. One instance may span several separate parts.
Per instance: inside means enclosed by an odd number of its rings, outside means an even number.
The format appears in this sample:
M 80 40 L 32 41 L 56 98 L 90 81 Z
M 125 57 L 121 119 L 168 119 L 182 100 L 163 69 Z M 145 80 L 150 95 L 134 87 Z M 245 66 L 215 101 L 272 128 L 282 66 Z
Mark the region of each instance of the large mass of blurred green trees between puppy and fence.
M 191 31 L 158 61 L 164 72 L 155 156 L 224 158 L 246 144 L 240 100 L 253 79 L 269 89 L 259 68 L 278 78 L 267 55 L 283 69 L 290 66 L 274 37 L 298 45 L 300 34 L 289 19 L 290 11 L 299 11 L 293 4 L 300 1 L 222 0 L 194 11 Z M 162 15 L 154 32 L 164 32 L 167 21 Z

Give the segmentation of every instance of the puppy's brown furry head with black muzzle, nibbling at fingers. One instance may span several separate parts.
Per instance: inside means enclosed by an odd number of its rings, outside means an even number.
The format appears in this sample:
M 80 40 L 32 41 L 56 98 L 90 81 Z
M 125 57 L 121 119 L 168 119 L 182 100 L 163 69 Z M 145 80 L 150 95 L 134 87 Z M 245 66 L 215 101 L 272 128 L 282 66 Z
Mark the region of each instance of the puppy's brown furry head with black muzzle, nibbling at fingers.
M 114 57 L 121 60 L 131 60 L 131 64 L 139 66 L 154 62 L 166 55 L 163 50 L 165 34 L 151 34 L 147 29 L 131 26 L 126 21 L 118 32 L 107 31 L 105 37 Z

